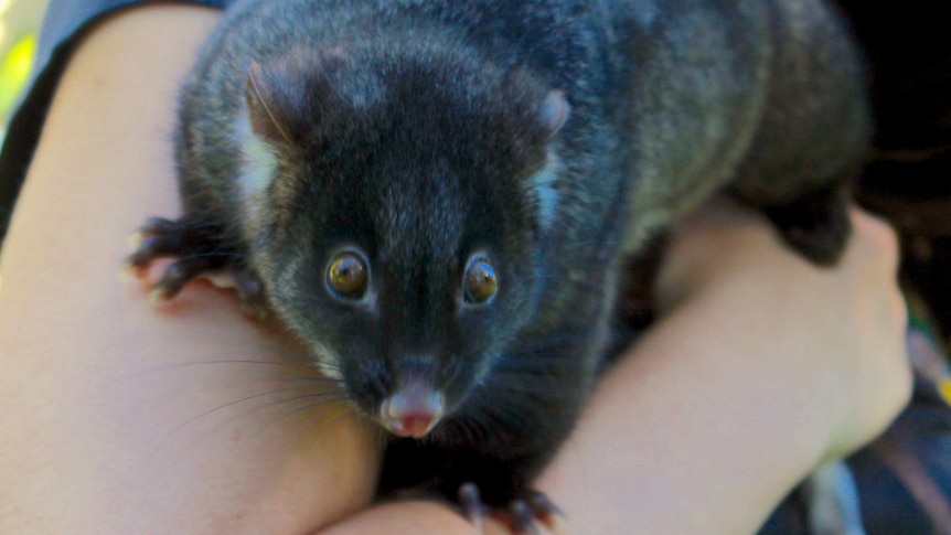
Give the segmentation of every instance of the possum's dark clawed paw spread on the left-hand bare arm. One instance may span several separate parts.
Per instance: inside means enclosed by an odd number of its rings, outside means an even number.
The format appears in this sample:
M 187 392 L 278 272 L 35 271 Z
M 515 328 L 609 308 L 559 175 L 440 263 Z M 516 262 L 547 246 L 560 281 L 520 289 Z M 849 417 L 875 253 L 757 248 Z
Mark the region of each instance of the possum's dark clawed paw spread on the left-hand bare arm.
M 174 257 L 150 290 L 151 301 L 172 299 L 191 280 L 204 277 L 217 287 L 235 288 L 248 315 L 267 315 L 264 285 L 243 265 L 242 255 L 222 246 L 221 235 L 207 224 L 150 217 L 132 235 L 128 269 L 141 275 L 152 260 Z

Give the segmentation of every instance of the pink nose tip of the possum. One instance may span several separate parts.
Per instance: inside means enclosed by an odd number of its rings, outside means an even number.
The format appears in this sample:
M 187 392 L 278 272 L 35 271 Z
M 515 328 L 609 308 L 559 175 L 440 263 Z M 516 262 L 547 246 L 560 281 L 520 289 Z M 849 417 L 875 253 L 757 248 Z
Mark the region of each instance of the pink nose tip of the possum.
M 442 395 L 428 386 L 410 384 L 383 402 L 381 419 L 397 437 L 423 438 L 442 418 Z

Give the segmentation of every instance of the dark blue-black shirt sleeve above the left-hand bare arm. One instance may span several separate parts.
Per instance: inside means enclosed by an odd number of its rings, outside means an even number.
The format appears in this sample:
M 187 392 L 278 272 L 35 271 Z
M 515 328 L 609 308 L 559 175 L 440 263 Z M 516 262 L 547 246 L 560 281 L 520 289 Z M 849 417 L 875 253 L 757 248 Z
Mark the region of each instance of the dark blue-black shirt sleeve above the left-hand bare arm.
M 33 74 L 10 118 L 7 138 L 0 149 L 0 244 L 7 234 L 10 214 L 26 169 L 33 159 L 56 84 L 78 38 L 103 17 L 147 2 L 148 0 L 50 0 L 40 31 Z M 220 9 L 233 3 L 232 0 L 179 2 Z

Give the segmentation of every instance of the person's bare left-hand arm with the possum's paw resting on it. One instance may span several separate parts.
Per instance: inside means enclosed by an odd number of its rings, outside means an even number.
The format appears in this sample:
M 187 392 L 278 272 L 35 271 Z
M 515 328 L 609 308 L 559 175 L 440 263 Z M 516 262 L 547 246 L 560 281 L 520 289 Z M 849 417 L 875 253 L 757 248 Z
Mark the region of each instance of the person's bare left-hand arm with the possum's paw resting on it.
M 157 311 L 118 280 L 127 236 L 178 211 L 174 98 L 216 18 L 125 12 L 57 89 L 3 248 L 0 532 L 292 533 L 370 499 L 354 420 L 278 403 L 307 392 L 286 336 L 210 288 Z

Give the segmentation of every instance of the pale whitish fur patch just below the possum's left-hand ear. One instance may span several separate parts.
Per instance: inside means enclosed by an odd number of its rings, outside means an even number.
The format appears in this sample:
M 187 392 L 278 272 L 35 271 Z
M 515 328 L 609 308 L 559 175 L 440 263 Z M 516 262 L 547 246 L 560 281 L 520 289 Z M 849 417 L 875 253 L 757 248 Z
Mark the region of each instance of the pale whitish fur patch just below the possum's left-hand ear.
M 241 114 L 235 121 L 235 135 L 244 159 L 237 180 L 238 194 L 252 217 L 256 218 L 264 193 L 277 171 L 277 149 L 255 136 L 247 114 Z

